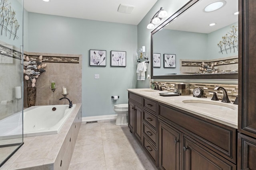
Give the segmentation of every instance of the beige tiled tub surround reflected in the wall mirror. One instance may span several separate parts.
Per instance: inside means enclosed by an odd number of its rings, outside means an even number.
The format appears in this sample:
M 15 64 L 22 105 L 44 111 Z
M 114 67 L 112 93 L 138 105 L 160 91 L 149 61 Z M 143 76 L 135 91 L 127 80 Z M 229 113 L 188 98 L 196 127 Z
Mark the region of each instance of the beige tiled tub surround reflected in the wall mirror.
M 238 72 L 238 56 L 224 57 L 221 59 L 212 59 L 212 60 L 180 60 L 180 72 L 181 73 L 190 73 L 190 74 L 200 74 L 199 70 L 202 67 L 202 62 L 206 63 L 208 66 L 211 66 L 213 63 L 217 63 L 215 66 L 218 67 L 219 73 L 224 72 Z

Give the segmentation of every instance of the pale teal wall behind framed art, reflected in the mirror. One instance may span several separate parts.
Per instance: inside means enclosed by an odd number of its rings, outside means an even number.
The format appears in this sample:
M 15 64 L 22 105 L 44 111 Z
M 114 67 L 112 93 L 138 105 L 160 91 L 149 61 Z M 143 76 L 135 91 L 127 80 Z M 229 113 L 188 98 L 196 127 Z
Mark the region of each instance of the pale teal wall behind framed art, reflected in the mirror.
M 154 33 L 154 53 L 161 54 L 161 67 L 154 75 L 180 74 L 180 59 L 206 59 L 207 34 L 162 29 Z M 176 55 L 176 68 L 164 68 L 164 54 Z

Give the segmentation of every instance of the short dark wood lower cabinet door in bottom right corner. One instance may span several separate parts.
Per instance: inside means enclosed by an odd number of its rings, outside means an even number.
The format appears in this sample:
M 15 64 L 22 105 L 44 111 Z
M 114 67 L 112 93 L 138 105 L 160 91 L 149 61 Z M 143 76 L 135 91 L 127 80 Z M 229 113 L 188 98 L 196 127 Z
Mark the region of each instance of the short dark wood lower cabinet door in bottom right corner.
M 256 139 L 238 133 L 238 170 L 256 170 Z

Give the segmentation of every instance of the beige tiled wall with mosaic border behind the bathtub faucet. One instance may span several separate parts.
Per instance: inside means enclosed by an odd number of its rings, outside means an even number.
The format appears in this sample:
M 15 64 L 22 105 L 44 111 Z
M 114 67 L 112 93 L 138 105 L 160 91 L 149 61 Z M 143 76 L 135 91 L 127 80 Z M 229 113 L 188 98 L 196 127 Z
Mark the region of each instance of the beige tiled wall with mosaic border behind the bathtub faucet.
M 67 88 L 67 93 L 72 103 L 82 103 L 82 55 L 54 54 L 54 53 L 32 53 L 24 52 L 30 59 L 36 60 L 43 56 L 46 63 L 46 72 L 42 73 L 36 82 L 36 106 L 68 104 L 68 100 L 62 98 L 62 87 Z M 56 84 L 56 90 L 50 89 L 51 81 Z M 24 107 L 26 102 L 26 80 L 24 80 Z

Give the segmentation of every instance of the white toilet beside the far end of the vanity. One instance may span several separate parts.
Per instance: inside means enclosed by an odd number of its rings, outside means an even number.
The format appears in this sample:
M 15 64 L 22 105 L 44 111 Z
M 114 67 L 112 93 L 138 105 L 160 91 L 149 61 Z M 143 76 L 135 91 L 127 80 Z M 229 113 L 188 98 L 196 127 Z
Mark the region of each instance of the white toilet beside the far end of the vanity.
M 117 113 L 116 125 L 128 125 L 128 104 L 117 104 L 114 111 Z

